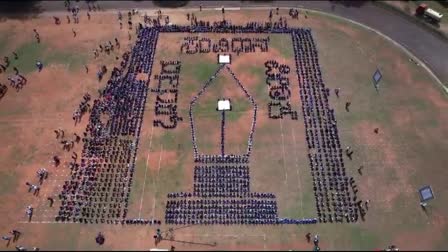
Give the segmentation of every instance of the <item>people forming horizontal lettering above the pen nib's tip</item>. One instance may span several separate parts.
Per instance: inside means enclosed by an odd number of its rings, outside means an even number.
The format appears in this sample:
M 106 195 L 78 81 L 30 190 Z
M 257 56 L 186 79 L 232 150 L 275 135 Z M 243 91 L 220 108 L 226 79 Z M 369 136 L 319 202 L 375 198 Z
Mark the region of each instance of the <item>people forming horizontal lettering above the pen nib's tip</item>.
M 259 50 L 257 50 L 257 48 Z M 236 37 L 230 40 L 221 38 L 217 42 L 207 37 L 188 36 L 184 37 L 184 41 L 180 47 L 181 53 L 254 53 L 268 52 L 269 37 L 267 38 L 242 38 Z

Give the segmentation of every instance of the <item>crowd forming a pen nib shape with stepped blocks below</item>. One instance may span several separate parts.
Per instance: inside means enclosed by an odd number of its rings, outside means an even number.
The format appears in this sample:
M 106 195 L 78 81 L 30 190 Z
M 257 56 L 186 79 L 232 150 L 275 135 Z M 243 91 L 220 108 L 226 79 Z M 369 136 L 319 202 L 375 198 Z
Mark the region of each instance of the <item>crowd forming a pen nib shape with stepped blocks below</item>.
M 253 106 L 248 149 L 243 155 L 198 154 L 192 108 L 221 71 L 227 70 Z M 253 97 L 226 65 L 221 65 L 190 102 L 190 126 L 195 155 L 193 193 L 168 194 L 165 221 L 167 224 L 313 224 L 317 219 L 282 219 L 277 215 L 276 197 L 272 193 L 250 192 L 249 157 L 253 144 L 257 105 Z M 225 117 L 222 118 L 225 120 Z M 224 130 L 222 133 L 224 134 Z M 225 138 L 225 135 L 222 136 Z M 221 141 L 223 145 L 225 141 Z M 224 147 L 221 146 L 224 150 Z

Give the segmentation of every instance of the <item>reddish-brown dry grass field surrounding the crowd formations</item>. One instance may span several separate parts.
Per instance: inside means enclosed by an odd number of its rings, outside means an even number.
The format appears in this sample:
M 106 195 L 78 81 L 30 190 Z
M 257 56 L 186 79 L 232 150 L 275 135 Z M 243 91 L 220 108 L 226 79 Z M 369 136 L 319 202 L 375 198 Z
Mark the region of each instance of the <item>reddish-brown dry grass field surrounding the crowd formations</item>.
M 149 13 L 149 11 L 148 11 Z M 220 13 L 204 11 L 198 18 L 218 20 Z M 282 13 L 287 16 L 286 11 Z M 65 14 L 64 14 L 65 15 Z M 186 23 L 185 13 L 170 11 L 173 23 Z M 265 11 L 228 11 L 233 23 L 261 21 Z M 138 17 L 134 17 L 137 20 Z M 128 50 L 134 42 L 128 40 L 127 25 L 119 29 L 115 13 L 96 13 L 90 21 L 81 18 L 80 24 L 53 24 L 51 16 L 26 21 L 7 20 L 0 23 L 0 56 L 16 51 L 19 60 L 12 60 L 28 79 L 19 92 L 10 88 L 0 100 L 0 214 L 1 232 L 13 228 L 23 230 L 19 244 L 49 250 L 144 250 L 154 247 L 154 228 L 143 226 L 79 225 L 54 223 L 23 223 L 25 207 L 36 208 L 37 221 L 50 221 L 57 204 L 50 209 L 46 196 L 59 192 L 67 175 L 71 153 L 62 151 L 53 130 L 63 128 L 67 137 L 81 134 L 87 118 L 74 126 L 72 113 L 85 92 L 92 98 L 105 81 L 98 82 L 95 72 L 103 64 L 112 69 L 119 61 L 116 55 Z M 341 97 L 330 97 L 338 119 L 342 144 L 355 151 L 352 161 L 345 160 L 347 173 L 354 176 L 361 198 L 370 199 L 366 221 L 357 224 L 318 224 L 313 226 L 193 226 L 175 231 L 175 240 L 162 241 L 159 248 L 176 246 L 178 250 L 311 250 L 304 235 L 319 233 L 322 249 L 382 249 L 395 244 L 402 250 L 446 249 L 448 247 L 448 176 L 445 164 L 448 146 L 447 96 L 420 66 L 383 38 L 339 20 L 309 14 L 308 19 L 288 20 L 289 25 L 310 27 L 319 49 L 319 60 L 326 86 L 341 88 Z M 135 22 L 134 22 L 135 23 Z M 33 28 L 38 29 L 42 42 L 35 43 Z M 77 31 L 73 37 L 72 29 Z M 5 36 L 3 36 L 5 34 Z M 152 127 L 155 95 L 149 94 L 141 131 L 136 176 L 131 192 L 129 216 L 164 218 L 168 192 L 192 189 L 192 144 L 188 122 L 188 103 L 216 69 L 216 55 L 179 53 L 186 34 L 161 34 L 152 75 L 160 71 L 159 61 L 182 62 L 179 91 L 179 116 L 184 118 L 175 130 Z M 230 38 L 230 35 L 205 35 L 210 38 Z M 261 35 L 257 35 L 261 36 Z M 118 38 L 119 51 L 93 58 L 99 43 Z M 255 37 L 255 35 L 253 35 Z M 261 36 L 263 37 L 263 36 Z M 306 157 L 304 126 L 299 120 L 272 120 L 267 117 L 268 91 L 265 84 L 264 62 L 275 59 L 291 67 L 289 74 L 293 109 L 301 111 L 291 38 L 271 35 L 268 53 L 233 55 L 232 70 L 249 90 L 259 107 L 254 150 L 250 163 L 251 190 L 277 195 L 280 217 L 307 218 L 315 213 L 310 170 Z M 36 60 L 45 67 L 38 73 Z M 89 72 L 86 73 L 84 65 Z M 371 76 L 376 68 L 383 73 L 380 91 L 373 88 Z M 8 83 L 6 74 L 0 82 Z M 146 78 L 146 77 L 145 77 Z M 153 76 L 150 76 L 154 85 Z M 229 83 L 229 76 L 213 86 L 203 104 L 212 104 L 217 95 L 238 98 L 239 93 Z M 232 87 L 232 88 L 230 88 Z M 351 101 L 351 112 L 344 110 Z M 202 104 L 202 103 L 201 103 Z M 214 104 L 215 105 L 215 104 Z M 247 118 L 250 106 L 236 103 L 240 113 L 229 122 L 230 148 L 237 151 L 247 139 Z M 215 107 L 199 110 L 202 126 L 200 144 L 205 151 L 216 146 L 217 128 L 213 123 Z M 209 116 L 210 115 L 210 116 Z M 373 129 L 379 127 L 375 135 Z M 238 129 L 242 129 L 241 132 Z M 81 146 L 75 146 L 80 151 Z M 50 165 L 52 155 L 61 156 L 62 166 Z M 356 169 L 364 165 L 364 175 Z M 50 170 L 39 197 L 27 192 L 25 182 L 36 182 L 40 167 Z M 436 199 L 425 214 L 419 208 L 417 190 L 432 185 Z M 170 226 L 162 225 L 162 230 Z M 106 243 L 95 244 L 97 232 L 103 232 Z M 212 246 L 216 243 L 215 246 Z M 14 244 L 3 249 L 14 249 Z

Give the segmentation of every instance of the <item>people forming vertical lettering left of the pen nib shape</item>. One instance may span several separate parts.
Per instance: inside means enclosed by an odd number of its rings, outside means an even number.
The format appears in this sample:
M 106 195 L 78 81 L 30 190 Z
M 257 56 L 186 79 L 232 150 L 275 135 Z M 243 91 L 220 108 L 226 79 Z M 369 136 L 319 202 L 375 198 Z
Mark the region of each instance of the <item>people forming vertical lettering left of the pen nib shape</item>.
M 157 88 L 151 89 L 156 93 L 154 127 L 174 129 L 182 117 L 178 116 L 177 97 L 179 92 L 180 61 L 160 61 L 160 75 L 155 75 Z M 173 68 L 173 69 L 170 69 Z M 159 119 L 162 117 L 162 119 Z

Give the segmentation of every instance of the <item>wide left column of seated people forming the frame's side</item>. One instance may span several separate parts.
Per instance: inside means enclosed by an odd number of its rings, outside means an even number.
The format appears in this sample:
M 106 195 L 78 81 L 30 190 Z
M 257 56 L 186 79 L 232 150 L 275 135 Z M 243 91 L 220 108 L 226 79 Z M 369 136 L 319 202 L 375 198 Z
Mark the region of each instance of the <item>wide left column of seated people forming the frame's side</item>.
M 82 138 L 81 161 L 70 163 L 70 179 L 59 195 L 56 221 L 161 224 L 154 219 L 126 219 L 149 89 L 137 74 L 151 74 L 157 37 L 154 29 L 142 30 L 132 56 L 124 55 L 123 68 L 113 69 L 105 89 L 94 100 Z

